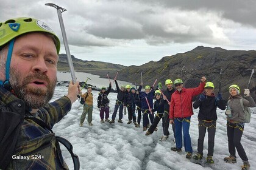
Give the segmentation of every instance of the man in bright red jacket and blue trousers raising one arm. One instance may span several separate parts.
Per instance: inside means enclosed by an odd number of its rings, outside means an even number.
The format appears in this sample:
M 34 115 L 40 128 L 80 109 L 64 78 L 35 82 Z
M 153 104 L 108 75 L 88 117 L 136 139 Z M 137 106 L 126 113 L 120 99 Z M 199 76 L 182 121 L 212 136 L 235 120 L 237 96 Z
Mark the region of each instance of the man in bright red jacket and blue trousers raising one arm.
M 190 138 L 190 118 L 193 115 L 192 98 L 204 91 L 206 78 L 201 78 L 201 83 L 194 89 L 186 89 L 183 87 L 183 81 L 176 79 L 174 85 L 176 91 L 171 96 L 171 105 L 169 109 L 170 123 L 175 126 L 176 147 L 172 147 L 172 151 L 182 151 L 182 129 L 186 158 L 191 158 L 193 149 Z

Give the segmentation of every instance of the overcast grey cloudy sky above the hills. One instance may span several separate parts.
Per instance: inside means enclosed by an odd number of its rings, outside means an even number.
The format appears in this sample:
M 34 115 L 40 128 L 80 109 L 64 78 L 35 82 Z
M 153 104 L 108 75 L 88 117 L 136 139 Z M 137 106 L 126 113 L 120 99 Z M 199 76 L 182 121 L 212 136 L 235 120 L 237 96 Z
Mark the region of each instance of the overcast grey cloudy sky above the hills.
M 82 60 L 139 66 L 197 46 L 256 48 L 254 0 L 1 0 L 0 21 L 41 19 L 62 40 L 57 10 L 48 2 L 67 9 L 69 49 Z

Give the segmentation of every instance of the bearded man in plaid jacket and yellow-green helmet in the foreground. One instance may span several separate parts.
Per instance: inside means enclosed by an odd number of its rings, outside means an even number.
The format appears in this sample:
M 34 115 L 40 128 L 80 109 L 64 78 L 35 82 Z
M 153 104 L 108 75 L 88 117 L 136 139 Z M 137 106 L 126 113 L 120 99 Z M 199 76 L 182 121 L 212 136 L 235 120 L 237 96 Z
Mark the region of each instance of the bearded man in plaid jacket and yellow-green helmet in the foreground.
M 49 103 L 57 82 L 59 38 L 34 18 L 0 22 L 0 33 L 0 169 L 68 169 L 51 129 L 80 90 L 79 81 L 71 82 L 68 95 Z M 43 158 L 32 159 L 39 153 Z

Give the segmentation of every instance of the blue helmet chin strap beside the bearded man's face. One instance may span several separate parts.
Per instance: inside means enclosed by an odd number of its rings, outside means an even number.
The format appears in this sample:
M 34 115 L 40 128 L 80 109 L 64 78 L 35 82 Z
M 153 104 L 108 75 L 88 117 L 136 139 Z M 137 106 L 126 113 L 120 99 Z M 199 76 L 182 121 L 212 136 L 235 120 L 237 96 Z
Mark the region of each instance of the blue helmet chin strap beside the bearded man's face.
M 3 82 L 0 80 L 0 85 L 7 90 L 12 89 L 9 79 L 10 79 L 10 62 L 12 59 L 12 50 L 13 50 L 13 45 L 14 45 L 14 39 L 15 38 L 13 38 L 9 44 L 7 59 L 6 59 L 6 63 L 5 63 L 5 81 Z

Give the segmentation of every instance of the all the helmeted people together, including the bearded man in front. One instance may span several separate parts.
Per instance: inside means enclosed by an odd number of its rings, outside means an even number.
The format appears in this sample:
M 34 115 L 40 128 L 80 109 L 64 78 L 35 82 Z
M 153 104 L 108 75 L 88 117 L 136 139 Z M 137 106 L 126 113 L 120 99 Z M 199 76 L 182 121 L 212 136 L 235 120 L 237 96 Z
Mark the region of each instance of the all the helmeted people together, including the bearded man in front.
M 68 94 L 58 100 L 49 101 L 54 94 L 57 83 L 57 62 L 59 60 L 60 41 L 51 28 L 44 22 L 34 18 L 14 18 L 0 22 L 0 169 L 68 169 L 62 157 L 59 142 L 64 144 L 71 153 L 74 169 L 79 169 L 79 159 L 72 151 L 72 145 L 64 138 L 56 137 L 52 132 L 55 123 L 71 110 L 77 95 L 84 98 L 84 113 L 80 120 L 83 126 L 88 114 L 88 123 L 92 123 L 93 94 L 91 87 L 82 94 L 79 82 L 69 83 Z M 216 131 L 216 108 L 225 110 L 226 104 L 221 94 L 213 93 L 214 84 L 202 77 L 201 83 L 194 89 L 183 87 L 183 81 L 170 79 L 165 81 L 166 90 L 154 90 L 154 87 L 142 84 L 138 89 L 127 85 L 118 89 L 118 96 L 112 120 L 109 117 L 109 100 L 107 98 L 111 84 L 106 89 L 102 87 L 98 96 L 101 123 L 115 123 L 119 109 L 119 123 L 123 123 L 123 109 L 128 112 L 128 124 L 140 127 L 143 114 L 143 131 L 152 134 L 162 118 L 163 137 L 169 136 L 169 123 L 172 124 L 176 147 L 172 151 L 182 151 L 182 132 L 186 157 L 192 158 L 193 149 L 189 134 L 190 118 L 193 108 L 199 107 L 199 138 L 197 154 L 193 156 L 201 160 L 203 156 L 204 137 L 208 131 L 208 163 L 213 161 L 214 138 Z M 174 89 L 172 84 L 176 87 Z M 227 137 L 229 157 L 224 161 L 236 163 L 236 151 L 243 160 L 242 169 L 249 169 L 246 152 L 241 145 L 244 130 L 243 107 L 255 107 L 248 89 L 241 96 L 240 87 L 233 84 L 229 87 L 230 97 L 227 102 Z M 192 98 L 199 95 L 192 105 Z M 155 98 L 155 103 L 153 103 Z M 243 106 L 241 106 L 243 104 Z M 136 121 L 135 110 L 138 119 Z M 156 114 L 155 114 L 156 112 Z M 105 113 L 105 120 L 104 120 Z M 155 116 L 154 116 L 155 114 Z M 149 126 L 149 119 L 151 126 Z M 25 157 L 27 160 L 13 158 Z M 31 157 L 37 155 L 37 159 Z

